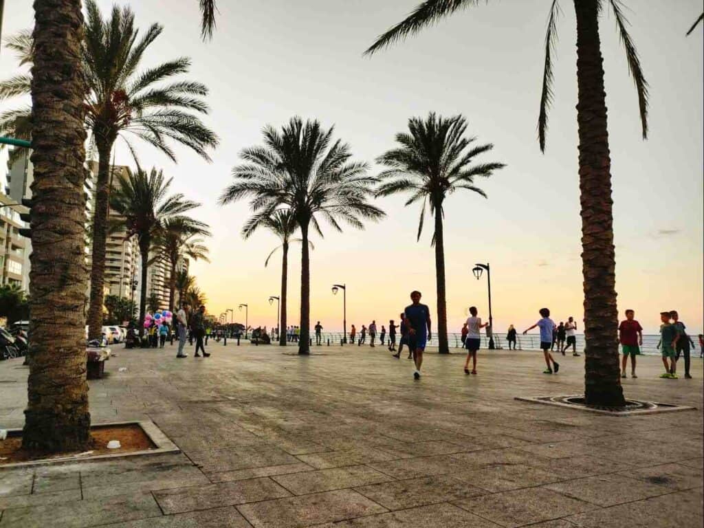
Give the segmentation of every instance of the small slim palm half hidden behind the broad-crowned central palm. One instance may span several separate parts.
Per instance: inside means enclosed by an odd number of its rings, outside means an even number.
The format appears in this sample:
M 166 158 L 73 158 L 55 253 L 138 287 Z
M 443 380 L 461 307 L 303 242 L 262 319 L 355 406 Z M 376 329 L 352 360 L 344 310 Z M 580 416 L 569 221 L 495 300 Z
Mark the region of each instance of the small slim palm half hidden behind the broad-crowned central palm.
M 282 328 L 286 328 L 287 325 L 287 283 L 288 283 L 288 271 L 289 271 L 289 245 L 293 242 L 301 242 L 301 239 L 292 239 L 296 230 L 298 230 L 298 224 L 296 224 L 296 217 L 291 209 L 277 209 L 270 216 L 261 217 L 259 215 L 254 215 L 242 228 L 242 236 L 246 239 L 251 237 L 251 235 L 260 227 L 265 227 L 274 233 L 281 240 L 281 245 L 276 246 L 269 256 L 264 261 L 264 265 L 269 264 L 270 258 L 279 251 L 282 250 L 282 262 L 281 262 L 281 318 L 279 320 L 279 345 L 286 346 L 286 332 L 282 332 Z M 308 242 L 310 248 L 313 248 L 313 244 Z

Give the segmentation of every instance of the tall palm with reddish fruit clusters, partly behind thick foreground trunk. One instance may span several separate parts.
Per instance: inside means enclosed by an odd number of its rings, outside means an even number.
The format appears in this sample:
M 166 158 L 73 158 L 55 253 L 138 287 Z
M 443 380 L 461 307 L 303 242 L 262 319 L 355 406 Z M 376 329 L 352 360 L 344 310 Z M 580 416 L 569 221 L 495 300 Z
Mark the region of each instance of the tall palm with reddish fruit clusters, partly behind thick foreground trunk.
M 163 84 L 176 75 L 187 73 L 189 58 L 181 57 L 137 71 L 145 51 L 161 34 L 161 25 L 153 24 L 140 35 L 134 27 L 134 13 L 128 6 L 121 9 L 114 6 L 107 20 L 103 20 L 95 0 L 87 0 L 86 10 L 82 46 L 87 86 L 85 126 L 91 132 L 98 154 L 88 311 L 89 337 L 94 338 L 100 336 L 102 326 L 110 155 L 115 141 L 122 137 L 135 159 L 127 134 L 151 144 L 173 161 L 176 158 L 169 140 L 189 147 L 209 161 L 206 149 L 215 147 L 218 137 L 191 113 L 208 113 L 208 106 L 200 99 L 208 94 L 204 84 L 185 80 Z M 20 38 L 15 44 L 21 61 L 31 60 L 31 43 Z M 20 94 L 26 77 L 13 77 L 0 84 L 0 95 Z M 7 127 L 22 127 L 27 122 L 27 110 L 20 108 L 0 115 L 0 131 L 3 126 L 6 130 Z

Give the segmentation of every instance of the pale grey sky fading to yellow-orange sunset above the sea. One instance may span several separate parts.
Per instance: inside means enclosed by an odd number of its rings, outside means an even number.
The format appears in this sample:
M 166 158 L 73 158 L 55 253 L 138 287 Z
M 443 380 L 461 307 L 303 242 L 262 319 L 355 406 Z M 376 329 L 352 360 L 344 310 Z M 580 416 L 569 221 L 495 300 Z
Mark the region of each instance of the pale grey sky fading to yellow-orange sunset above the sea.
M 403 18 L 418 0 L 220 0 L 218 30 L 199 37 L 196 0 L 132 0 L 137 25 L 159 22 L 165 30 L 146 54 L 146 65 L 190 56 L 185 76 L 211 90 L 206 122 L 221 143 L 206 163 L 177 147 L 179 163 L 134 143 L 142 165 L 156 165 L 203 206 L 195 216 L 213 228 L 211 263 L 191 267 L 218 315 L 249 304 L 252 325 L 275 323 L 268 297 L 279 295 L 280 260 L 264 260 L 278 244 L 261 232 L 240 235 L 248 204 L 220 207 L 238 153 L 261 142 L 261 129 L 279 127 L 292 115 L 335 125 L 355 158 L 378 172 L 374 159 L 394 146 L 394 134 L 413 115 L 462 113 L 468 132 L 494 144 L 477 161 L 507 167 L 479 185 L 489 195 L 457 192 L 446 203 L 448 321 L 458 332 L 467 306 L 488 315 L 486 277 L 474 263 L 489 262 L 495 328 L 524 329 L 542 306 L 553 319 L 582 320 L 579 187 L 577 175 L 577 82 L 572 2 L 562 1 L 555 55 L 555 103 L 549 115 L 546 153 L 536 140 L 544 33 L 550 1 L 491 1 L 455 14 L 372 58 L 362 56 L 377 34 Z M 3 34 L 31 27 L 29 0 L 6 5 Z M 99 1 L 105 13 L 111 1 Z M 118 5 L 128 4 L 118 1 Z M 646 332 L 658 313 L 677 309 L 691 333 L 701 332 L 703 313 L 703 30 L 685 32 L 702 12 L 701 0 L 627 0 L 631 36 L 650 83 L 650 137 L 641 139 L 638 102 L 615 20 L 601 20 L 615 201 L 617 292 L 620 313 L 636 310 Z M 18 72 L 3 49 L 0 76 Z M 21 100 L 4 101 L 1 109 Z M 132 164 L 124 143 L 118 164 Z M 4 163 L 6 155 L 1 155 Z M 3 171 L 4 172 L 4 171 Z M 323 225 L 311 253 L 311 324 L 341 329 L 342 298 L 334 282 L 348 286 L 347 322 L 358 327 L 398 318 L 412 289 L 435 309 L 432 232 L 415 240 L 419 206 L 405 198 L 378 201 L 387 218 L 337 233 Z M 300 250 L 289 268 L 289 322 L 297 322 Z M 435 317 L 433 325 L 435 325 Z M 696 332 L 695 332 L 696 330 Z

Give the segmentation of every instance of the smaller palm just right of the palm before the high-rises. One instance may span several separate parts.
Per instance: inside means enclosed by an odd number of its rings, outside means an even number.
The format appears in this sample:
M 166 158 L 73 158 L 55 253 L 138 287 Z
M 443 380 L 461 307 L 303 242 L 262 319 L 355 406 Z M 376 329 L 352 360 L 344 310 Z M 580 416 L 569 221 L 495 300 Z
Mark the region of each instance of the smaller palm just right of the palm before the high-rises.
M 169 310 L 174 310 L 177 267 L 182 258 L 208 260 L 208 248 L 203 239 L 210 237 L 210 227 L 204 222 L 185 216 L 168 218 L 163 230 L 156 238 L 158 258 L 165 258 L 169 264 Z

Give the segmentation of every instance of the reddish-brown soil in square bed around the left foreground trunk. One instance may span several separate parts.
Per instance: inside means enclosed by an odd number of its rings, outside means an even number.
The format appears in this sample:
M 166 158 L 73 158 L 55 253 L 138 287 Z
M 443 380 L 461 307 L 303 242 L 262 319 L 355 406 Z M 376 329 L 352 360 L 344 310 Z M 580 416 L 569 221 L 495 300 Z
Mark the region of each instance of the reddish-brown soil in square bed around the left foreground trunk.
M 79 454 L 84 456 L 115 455 L 156 448 L 149 436 L 146 436 L 142 427 L 137 424 L 92 427 L 90 436 L 92 446 L 86 451 L 68 451 L 66 453 L 25 451 L 22 448 L 22 436 L 8 436 L 5 440 L 0 440 L 0 467 L 4 464 L 30 462 L 32 460 L 51 460 L 52 458 L 63 458 Z M 111 440 L 119 440 L 120 448 L 108 449 L 108 441 Z

